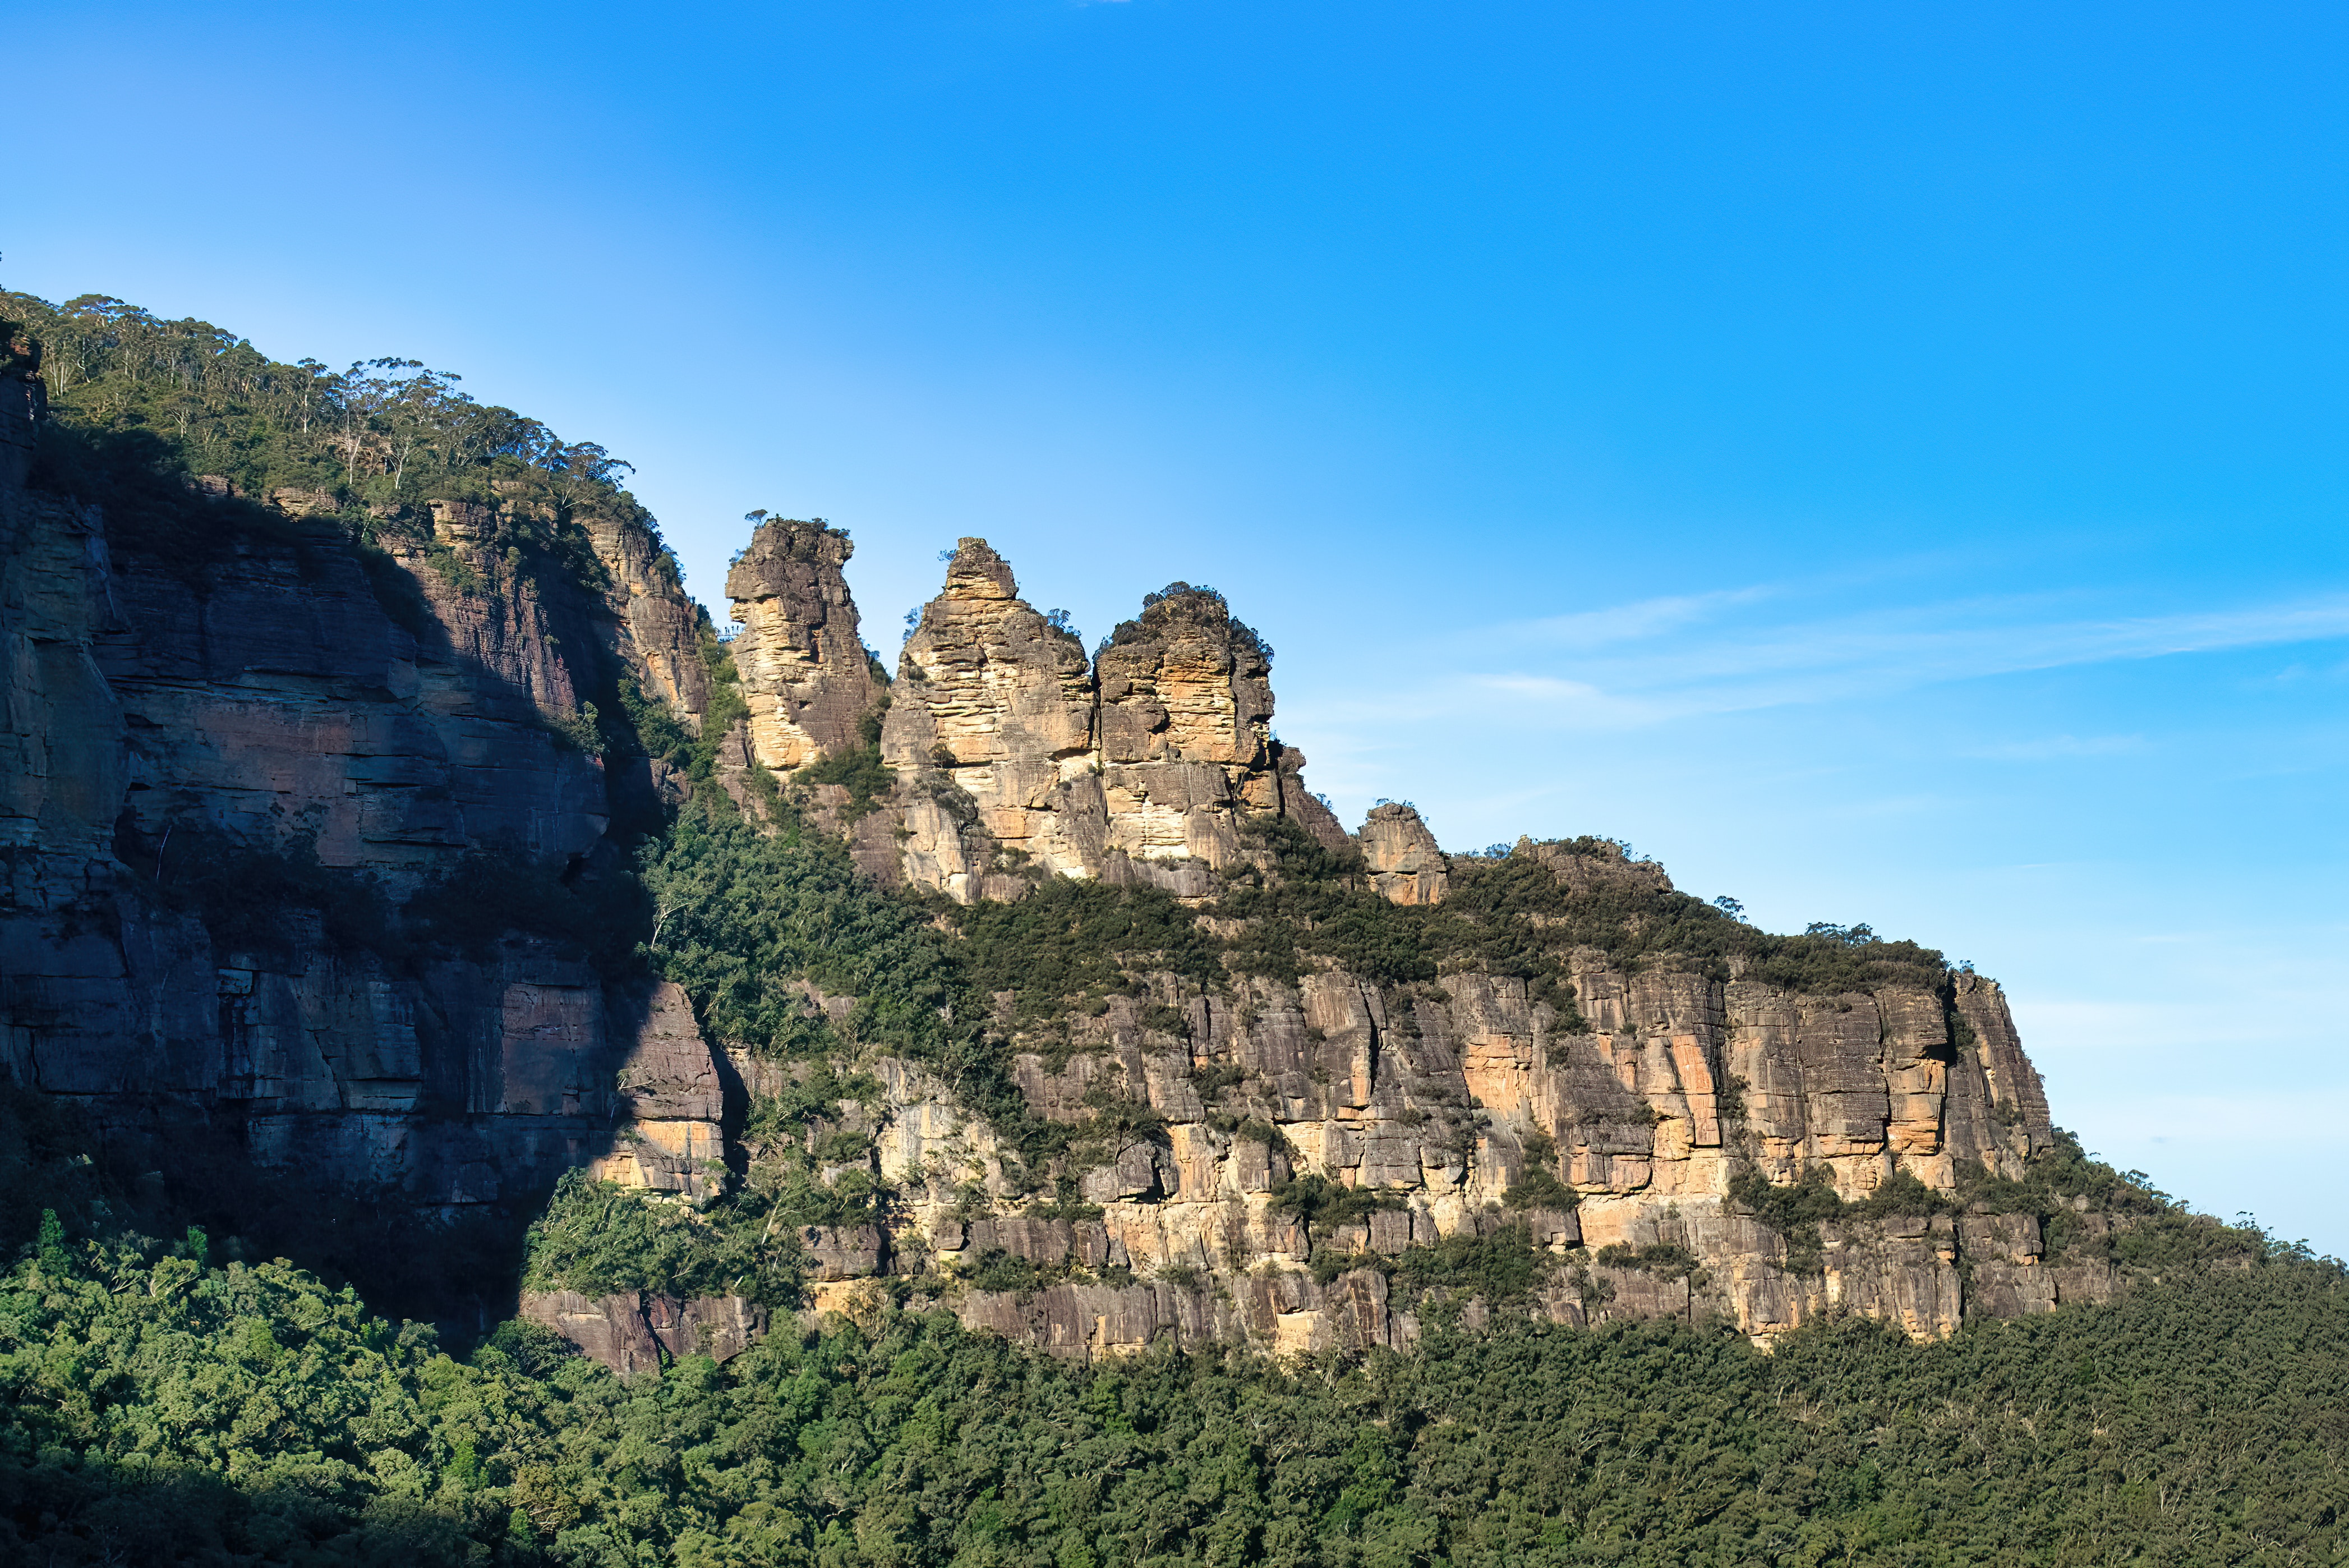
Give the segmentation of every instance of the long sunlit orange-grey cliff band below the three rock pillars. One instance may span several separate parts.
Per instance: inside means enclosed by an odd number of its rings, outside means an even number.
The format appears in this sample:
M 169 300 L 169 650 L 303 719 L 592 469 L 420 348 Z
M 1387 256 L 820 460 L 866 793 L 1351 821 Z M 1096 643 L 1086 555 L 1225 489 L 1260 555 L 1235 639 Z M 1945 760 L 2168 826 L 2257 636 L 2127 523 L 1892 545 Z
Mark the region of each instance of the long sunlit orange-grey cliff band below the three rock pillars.
M 1604 844 L 1517 856 L 1586 886 L 1663 879 Z M 1968 1180 L 2020 1178 L 2053 1140 L 1990 980 L 1806 994 L 1626 971 L 1590 947 L 1569 971 L 1564 1013 L 1489 973 L 1398 987 L 1339 969 L 1229 997 L 1158 976 L 1149 997 L 1111 997 L 1052 1058 L 1015 1058 L 1043 1117 L 1149 1112 L 1153 1131 L 1076 1161 L 1083 1215 L 1027 1208 L 1034 1175 L 942 1084 L 890 1063 L 881 1251 L 963 1279 L 949 1300 L 965 1321 L 1078 1356 L 1158 1338 L 1400 1347 L 1421 1300 L 1395 1269 L 1503 1232 L 1555 1260 L 1532 1305 L 1557 1321 L 1722 1316 L 1769 1340 L 1865 1312 L 1943 1335 L 2109 1295 L 2109 1267 L 2048 1267 L 2034 1215 L 1966 1208 Z M 1842 1208 L 1773 1229 L 1738 1197 L 1755 1175 L 1823 1178 Z M 1283 1197 L 1297 1178 L 1365 1206 L 1318 1220 Z M 972 1192 L 994 1201 L 972 1211 Z M 1900 1192 L 1926 1197 L 1872 1201 Z M 820 1279 L 874 1267 L 867 1248 L 839 1274 L 810 1255 Z M 989 1286 L 994 1258 L 1034 1284 Z

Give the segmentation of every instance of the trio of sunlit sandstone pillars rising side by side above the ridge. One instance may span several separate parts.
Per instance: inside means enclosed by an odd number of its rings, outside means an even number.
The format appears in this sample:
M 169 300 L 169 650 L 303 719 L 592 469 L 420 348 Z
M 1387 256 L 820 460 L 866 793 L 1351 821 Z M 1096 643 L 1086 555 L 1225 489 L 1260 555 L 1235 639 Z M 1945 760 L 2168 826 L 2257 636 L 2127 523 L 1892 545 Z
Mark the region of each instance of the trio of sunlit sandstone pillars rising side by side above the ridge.
M 756 543 L 728 583 L 735 616 L 759 628 L 756 649 L 745 646 L 752 632 L 735 644 L 754 733 L 756 715 L 799 712 L 813 689 L 803 661 L 766 649 L 817 646 L 846 607 L 834 559 L 846 559 L 846 541 L 792 527 L 799 588 L 754 592 L 775 571 L 759 576 L 752 562 L 780 550 L 761 555 Z M 853 637 L 853 611 L 846 621 Z M 1088 661 L 1071 630 L 1019 597 L 1010 564 L 984 538 L 965 538 L 900 656 L 881 726 L 897 785 L 883 813 L 853 830 L 857 863 L 965 903 L 1017 898 L 1041 877 L 1153 882 L 1205 898 L 1214 872 L 1245 858 L 1250 816 L 1292 818 L 1351 851 L 1304 788 L 1304 757 L 1271 733 L 1268 677 L 1264 642 L 1221 595 L 1189 583 L 1151 595 Z M 846 677 L 824 686 L 834 689 L 864 701 Z M 834 708 L 836 719 L 848 712 Z M 832 743 L 761 745 L 763 759 L 792 766 Z

